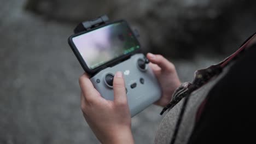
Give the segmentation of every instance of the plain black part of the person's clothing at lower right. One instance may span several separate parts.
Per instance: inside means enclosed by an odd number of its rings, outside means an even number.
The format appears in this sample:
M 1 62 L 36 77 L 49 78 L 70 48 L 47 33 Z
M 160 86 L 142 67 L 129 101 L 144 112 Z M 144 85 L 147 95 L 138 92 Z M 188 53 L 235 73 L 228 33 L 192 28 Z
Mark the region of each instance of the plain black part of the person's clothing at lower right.
M 250 135 L 256 89 L 256 45 L 249 47 L 207 95 L 190 143 L 242 142 Z

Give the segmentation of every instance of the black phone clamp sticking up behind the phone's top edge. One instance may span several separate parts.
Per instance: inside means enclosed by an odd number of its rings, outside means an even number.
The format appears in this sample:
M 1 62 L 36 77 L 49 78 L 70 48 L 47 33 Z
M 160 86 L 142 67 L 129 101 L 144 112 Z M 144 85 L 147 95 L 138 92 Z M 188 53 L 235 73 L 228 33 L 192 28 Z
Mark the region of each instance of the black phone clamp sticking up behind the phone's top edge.
M 78 24 L 77 27 L 75 27 L 74 33 L 88 31 L 91 28 L 106 24 L 108 21 L 109 21 L 108 16 L 102 15 L 100 17 L 97 17 L 94 20 L 81 22 Z

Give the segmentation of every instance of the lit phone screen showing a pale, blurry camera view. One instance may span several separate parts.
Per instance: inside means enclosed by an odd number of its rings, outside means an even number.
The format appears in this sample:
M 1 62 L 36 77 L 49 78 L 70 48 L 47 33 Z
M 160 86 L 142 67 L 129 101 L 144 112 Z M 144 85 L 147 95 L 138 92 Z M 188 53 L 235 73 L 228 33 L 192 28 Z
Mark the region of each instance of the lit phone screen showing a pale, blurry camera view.
M 89 69 L 140 48 L 138 40 L 125 21 L 78 35 L 72 40 Z

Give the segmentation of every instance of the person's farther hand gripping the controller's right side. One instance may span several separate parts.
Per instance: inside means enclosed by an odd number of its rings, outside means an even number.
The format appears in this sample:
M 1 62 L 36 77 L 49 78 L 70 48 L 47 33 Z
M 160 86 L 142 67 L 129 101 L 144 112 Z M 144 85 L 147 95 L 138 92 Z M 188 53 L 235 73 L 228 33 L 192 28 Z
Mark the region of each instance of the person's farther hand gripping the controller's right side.
M 147 54 L 150 68 L 153 69 L 156 78 L 160 83 L 162 95 L 156 105 L 166 106 L 172 99 L 172 94 L 181 85 L 174 65 L 161 55 Z

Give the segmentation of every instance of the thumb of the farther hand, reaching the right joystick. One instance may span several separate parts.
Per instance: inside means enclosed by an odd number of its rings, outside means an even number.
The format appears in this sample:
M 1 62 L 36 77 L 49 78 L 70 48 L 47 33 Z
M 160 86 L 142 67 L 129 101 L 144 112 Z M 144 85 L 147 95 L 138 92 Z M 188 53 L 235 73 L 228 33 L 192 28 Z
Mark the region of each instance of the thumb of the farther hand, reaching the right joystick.
M 153 55 L 152 53 L 148 53 L 147 58 L 150 62 L 157 64 L 162 70 L 172 71 L 175 69 L 174 65 L 162 55 Z

